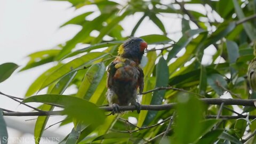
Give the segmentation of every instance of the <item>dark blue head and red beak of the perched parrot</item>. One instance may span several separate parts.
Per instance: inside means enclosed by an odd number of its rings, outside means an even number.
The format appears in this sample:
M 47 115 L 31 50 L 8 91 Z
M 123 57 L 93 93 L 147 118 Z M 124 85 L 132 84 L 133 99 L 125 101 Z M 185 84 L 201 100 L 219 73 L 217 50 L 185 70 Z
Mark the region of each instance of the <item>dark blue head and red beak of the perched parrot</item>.
M 132 59 L 139 64 L 147 47 L 148 44 L 143 39 L 132 37 L 118 47 L 118 55 L 123 58 Z

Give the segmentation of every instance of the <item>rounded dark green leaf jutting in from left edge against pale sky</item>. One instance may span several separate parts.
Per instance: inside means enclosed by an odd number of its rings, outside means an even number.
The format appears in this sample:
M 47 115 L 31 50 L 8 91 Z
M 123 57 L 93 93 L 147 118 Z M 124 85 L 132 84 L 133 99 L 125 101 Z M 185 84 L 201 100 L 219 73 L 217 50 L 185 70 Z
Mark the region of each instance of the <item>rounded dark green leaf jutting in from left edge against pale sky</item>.
M 0 83 L 9 78 L 14 70 L 18 67 L 18 65 L 12 62 L 7 62 L 0 65 Z

